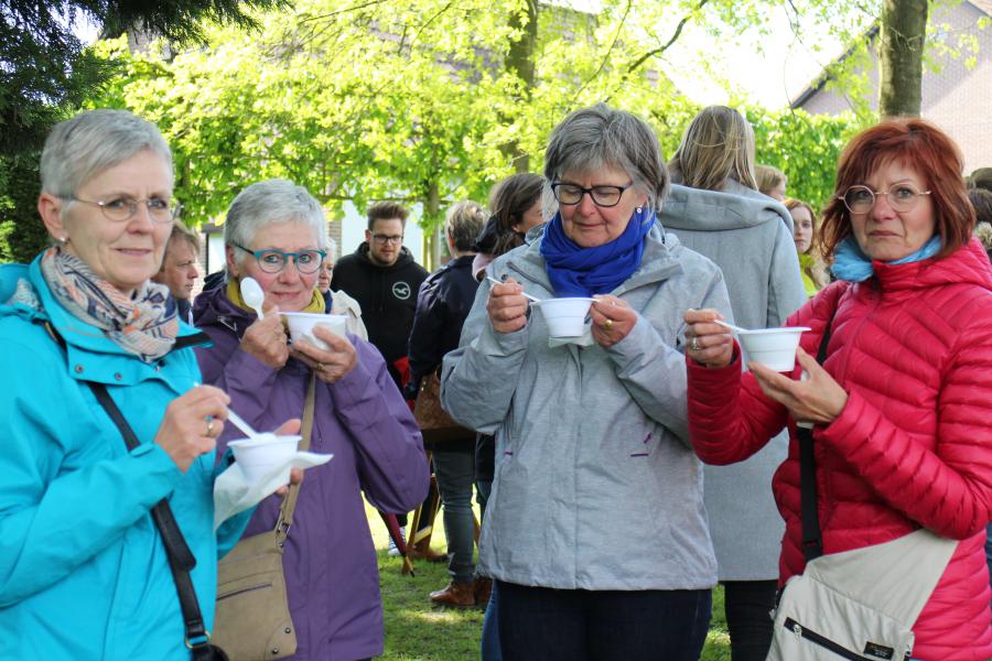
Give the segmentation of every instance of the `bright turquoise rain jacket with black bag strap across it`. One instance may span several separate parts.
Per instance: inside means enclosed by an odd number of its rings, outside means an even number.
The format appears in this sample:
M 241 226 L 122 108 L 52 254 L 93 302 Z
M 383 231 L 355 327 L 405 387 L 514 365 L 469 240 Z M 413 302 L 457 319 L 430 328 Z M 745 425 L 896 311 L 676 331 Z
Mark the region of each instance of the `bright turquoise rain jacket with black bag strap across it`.
M 15 289 L 33 290 L 37 306 L 0 304 L 0 659 L 190 659 L 149 510 L 169 498 L 197 560 L 192 576 L 207 629 L 218 539 L 226 552 L 251 513 L 215 537 L 214 453 L 183 474 L 153 443 L 165 407 L 200 381 L 183 347 L 198 336 L 183 325 L 177 348 L 145 364 L 56 303 L 37 259 L 0 267 L 0 301 Z M 82 379 L 107 384 L 137 449 L 127 451 Z

